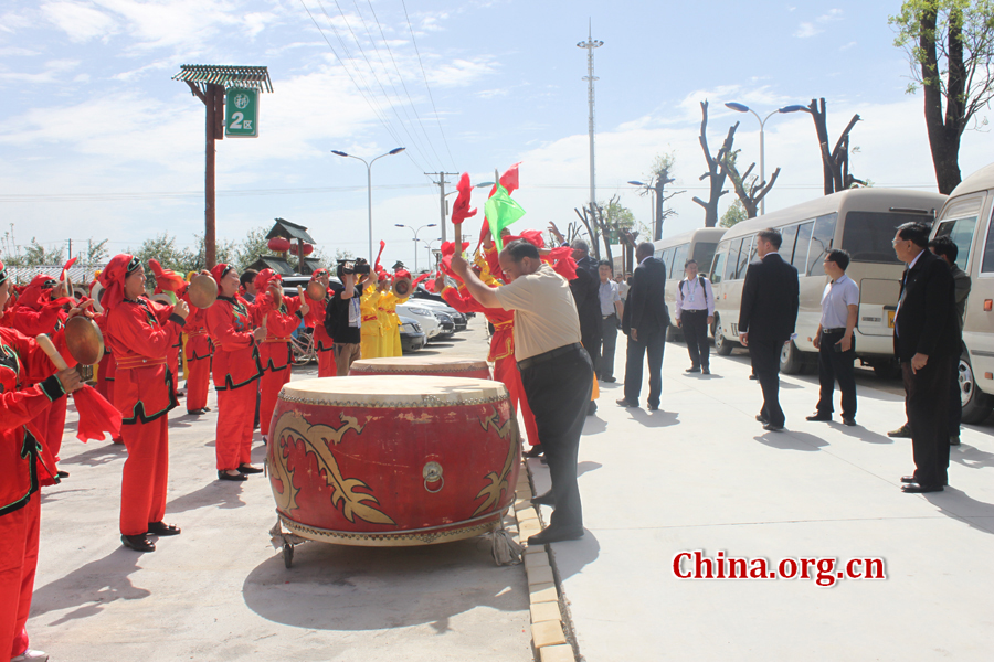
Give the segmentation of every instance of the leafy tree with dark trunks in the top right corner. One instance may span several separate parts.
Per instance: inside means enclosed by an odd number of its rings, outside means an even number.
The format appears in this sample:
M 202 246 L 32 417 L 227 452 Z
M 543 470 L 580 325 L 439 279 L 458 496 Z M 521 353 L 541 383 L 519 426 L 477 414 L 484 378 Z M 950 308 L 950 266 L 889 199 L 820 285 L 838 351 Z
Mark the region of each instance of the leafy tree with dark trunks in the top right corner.
M 888 22 L 911 65 L 908 93 L 919 87 L 939 192 L 961 181 L 963 131 L 985 125 L 977 113 L 994 97 L 994 0 L 906 0 Z

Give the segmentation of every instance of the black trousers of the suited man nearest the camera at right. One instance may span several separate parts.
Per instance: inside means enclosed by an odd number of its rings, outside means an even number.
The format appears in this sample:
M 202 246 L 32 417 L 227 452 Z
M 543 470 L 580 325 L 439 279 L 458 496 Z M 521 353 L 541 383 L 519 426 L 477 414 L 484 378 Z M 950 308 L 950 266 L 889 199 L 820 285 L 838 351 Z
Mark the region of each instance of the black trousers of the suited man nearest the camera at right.
M 949 383 L 956 363 L 956 356 L 930 356 L 924 367 L 912 372 L 911 363 L 901 361 L 914 479 L 924 487 L 942 487 L 949 480 Z

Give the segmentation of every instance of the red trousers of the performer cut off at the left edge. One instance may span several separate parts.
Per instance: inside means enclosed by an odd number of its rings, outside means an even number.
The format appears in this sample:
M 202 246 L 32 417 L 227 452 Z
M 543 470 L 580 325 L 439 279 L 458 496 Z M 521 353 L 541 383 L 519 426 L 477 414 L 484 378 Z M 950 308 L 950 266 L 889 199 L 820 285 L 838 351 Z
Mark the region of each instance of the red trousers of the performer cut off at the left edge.
M 24 508 L 0 517 L 0 660 L 28 650 L 24 623 L 38 567 L 40 504 L 41 493 L 35 492 Z

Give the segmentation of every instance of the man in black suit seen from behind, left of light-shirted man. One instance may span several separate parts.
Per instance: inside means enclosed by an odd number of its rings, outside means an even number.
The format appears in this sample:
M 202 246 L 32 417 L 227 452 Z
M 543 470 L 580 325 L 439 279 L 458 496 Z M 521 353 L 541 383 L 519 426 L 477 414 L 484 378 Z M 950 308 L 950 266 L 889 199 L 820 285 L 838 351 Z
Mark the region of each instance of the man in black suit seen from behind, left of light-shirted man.
M 786 418 L 780 408 L 780 353 L 791 342 L 797 321 L 797 269 L 780 257 L 780 231 L 755 236 L 758 260 L 749 264 L 739 309 L 739 341 L 749 348 L 752 372 L 763 388 L 763 408 L 757 420 L 779 433 Z

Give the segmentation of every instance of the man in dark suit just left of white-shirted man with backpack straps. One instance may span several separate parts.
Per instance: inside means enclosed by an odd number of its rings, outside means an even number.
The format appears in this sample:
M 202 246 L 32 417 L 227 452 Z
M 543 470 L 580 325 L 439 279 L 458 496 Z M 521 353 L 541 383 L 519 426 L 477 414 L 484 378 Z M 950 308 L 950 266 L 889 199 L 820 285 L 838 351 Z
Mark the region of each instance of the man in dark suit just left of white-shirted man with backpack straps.
M 666 349 L 666 329 L 669 311 L 666 310 L 664 288 L 666 265 L 653 257 L 655 247 L 645 242 L 635 248 L 638 266 L 632 278 L 632 289 L 622 318 L 622 330 L 628 337 L 625 360 L 625 397 L 617 401 L 623 407 L 637 407 L 642 392 L 642 362 L 648 355 L 649 412 L 659 408 L 663 395 L 663 352 Z

